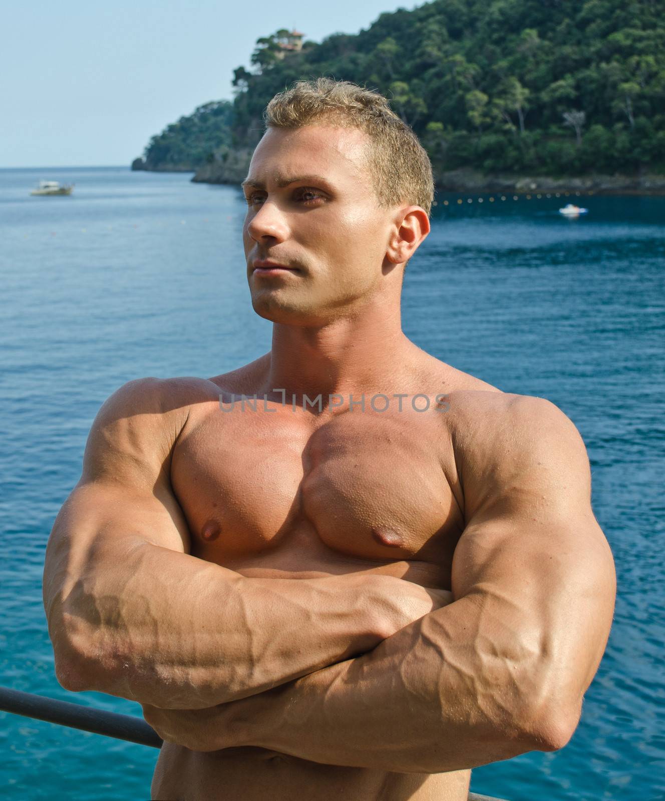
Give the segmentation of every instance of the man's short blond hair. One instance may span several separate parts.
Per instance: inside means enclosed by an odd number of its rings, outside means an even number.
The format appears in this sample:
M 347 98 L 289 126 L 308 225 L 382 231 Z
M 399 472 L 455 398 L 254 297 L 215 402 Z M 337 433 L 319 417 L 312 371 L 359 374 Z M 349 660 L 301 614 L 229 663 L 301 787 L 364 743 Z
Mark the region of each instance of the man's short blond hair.
M 268 103 L 264 123 L 267 128 L 331 123 L 365 131 L 372 142 L 368 167 L 379 205 L 409 203 L 429 215 L 434 199 L 429 155 L 378 92 L 332 78 L 296 81 Z

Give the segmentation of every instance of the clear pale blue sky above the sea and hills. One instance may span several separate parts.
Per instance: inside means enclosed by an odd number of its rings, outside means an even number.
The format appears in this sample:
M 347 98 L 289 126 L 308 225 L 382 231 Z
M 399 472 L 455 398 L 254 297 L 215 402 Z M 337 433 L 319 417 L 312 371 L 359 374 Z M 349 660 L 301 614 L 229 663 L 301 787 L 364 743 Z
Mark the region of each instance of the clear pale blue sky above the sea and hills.
M 260 36 L 296 26 L 320 42 L 419 2 L 23 0 L 0 25 L 0 167 L 129 164 L 151 135 L 232 99 Z

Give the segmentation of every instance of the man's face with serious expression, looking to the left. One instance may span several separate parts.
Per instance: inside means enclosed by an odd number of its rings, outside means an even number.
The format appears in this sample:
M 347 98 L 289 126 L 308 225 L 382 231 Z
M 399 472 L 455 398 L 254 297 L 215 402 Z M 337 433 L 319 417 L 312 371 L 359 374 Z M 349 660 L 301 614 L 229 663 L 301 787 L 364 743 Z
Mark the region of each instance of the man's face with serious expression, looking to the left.
M 395 210 L 381 209 L 356 128 L 269 128 L 244 184 L 252 306 L 277 323 L 320 325 L 377 291 Z M 288 182 L 288 183 L 287 183 Z M 255 271 L 256 260 L 293 268 Z

